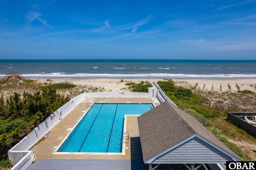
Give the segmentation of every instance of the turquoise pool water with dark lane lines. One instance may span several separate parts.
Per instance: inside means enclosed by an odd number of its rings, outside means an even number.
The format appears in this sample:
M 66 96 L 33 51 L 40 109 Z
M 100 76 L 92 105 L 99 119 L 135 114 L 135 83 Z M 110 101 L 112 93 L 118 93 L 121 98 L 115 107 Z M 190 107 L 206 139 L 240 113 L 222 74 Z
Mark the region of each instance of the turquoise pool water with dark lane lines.
M 142 115 L 152 103 L 94 103 L 58 152 L 122 152 L 124 115 Z

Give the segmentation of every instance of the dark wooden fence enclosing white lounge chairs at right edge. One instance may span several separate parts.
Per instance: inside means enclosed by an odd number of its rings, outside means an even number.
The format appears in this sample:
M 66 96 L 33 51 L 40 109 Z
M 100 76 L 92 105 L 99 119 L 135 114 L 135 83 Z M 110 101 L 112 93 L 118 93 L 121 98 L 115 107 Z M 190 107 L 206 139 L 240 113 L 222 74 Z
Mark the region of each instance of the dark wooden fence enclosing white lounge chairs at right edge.
M 256 116 L 256 112 L 228 112 L 228 118 L 227 121 L 230 123 L 233 123 L 239 128 L 244 129 L 248 134 L 252 135 L 254 138 L 256 138 L 256 126 L 251 125 L 250 123 L 244 121 L 244 117 L 254 117 Z

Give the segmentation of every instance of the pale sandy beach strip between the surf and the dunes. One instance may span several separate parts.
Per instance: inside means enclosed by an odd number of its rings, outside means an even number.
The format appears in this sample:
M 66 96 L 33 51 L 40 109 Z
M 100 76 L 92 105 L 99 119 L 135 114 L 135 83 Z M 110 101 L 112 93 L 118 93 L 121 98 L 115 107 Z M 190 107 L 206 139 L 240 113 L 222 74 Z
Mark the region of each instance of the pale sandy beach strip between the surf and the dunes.
M 148 79 L 118 79 L 118 78 L 47 78 L 36 79 L 42 83 L 62 83 L 70 82 L 75 85 L 88 85 L 93 87 L 104 87 L 105 91 L 124 91 L 126 83 L 134 82 L 140 83 L 141 81 L 148 81 Z M 48 81 L 47 81 L 48 80 Z M 154 81 L 167 81 L 162 78 L 149 79 L 152 83 Z M 256 92 L 256 79 L 243 79 L 243 78 L 224 78 L 224 79 L 172 79 L 176 85 L 185 88 L 196 87 L 195 89 L 213 92 L 236 92 L 250 90 Z M 230 85 L 230 89 L 228 87 Z M 236 86 L 237 85 L 237 86 Z

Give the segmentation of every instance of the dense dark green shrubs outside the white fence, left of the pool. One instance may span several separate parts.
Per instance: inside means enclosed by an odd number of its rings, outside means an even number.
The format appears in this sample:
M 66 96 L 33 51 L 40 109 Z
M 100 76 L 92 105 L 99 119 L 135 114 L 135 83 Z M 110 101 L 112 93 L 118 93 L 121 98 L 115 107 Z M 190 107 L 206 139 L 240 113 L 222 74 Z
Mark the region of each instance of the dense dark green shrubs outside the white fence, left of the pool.
M 51 87 L 0 98 L 0 158 L 26 134 L 70 100 Z

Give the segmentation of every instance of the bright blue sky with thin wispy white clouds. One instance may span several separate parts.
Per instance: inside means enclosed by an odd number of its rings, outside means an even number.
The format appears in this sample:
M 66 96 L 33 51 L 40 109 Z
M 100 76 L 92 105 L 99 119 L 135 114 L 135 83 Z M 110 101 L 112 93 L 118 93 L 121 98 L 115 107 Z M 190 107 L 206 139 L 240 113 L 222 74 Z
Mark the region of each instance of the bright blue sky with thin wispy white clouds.
M 256 59 L 256 0 L 0 0 L 0 59 Z

